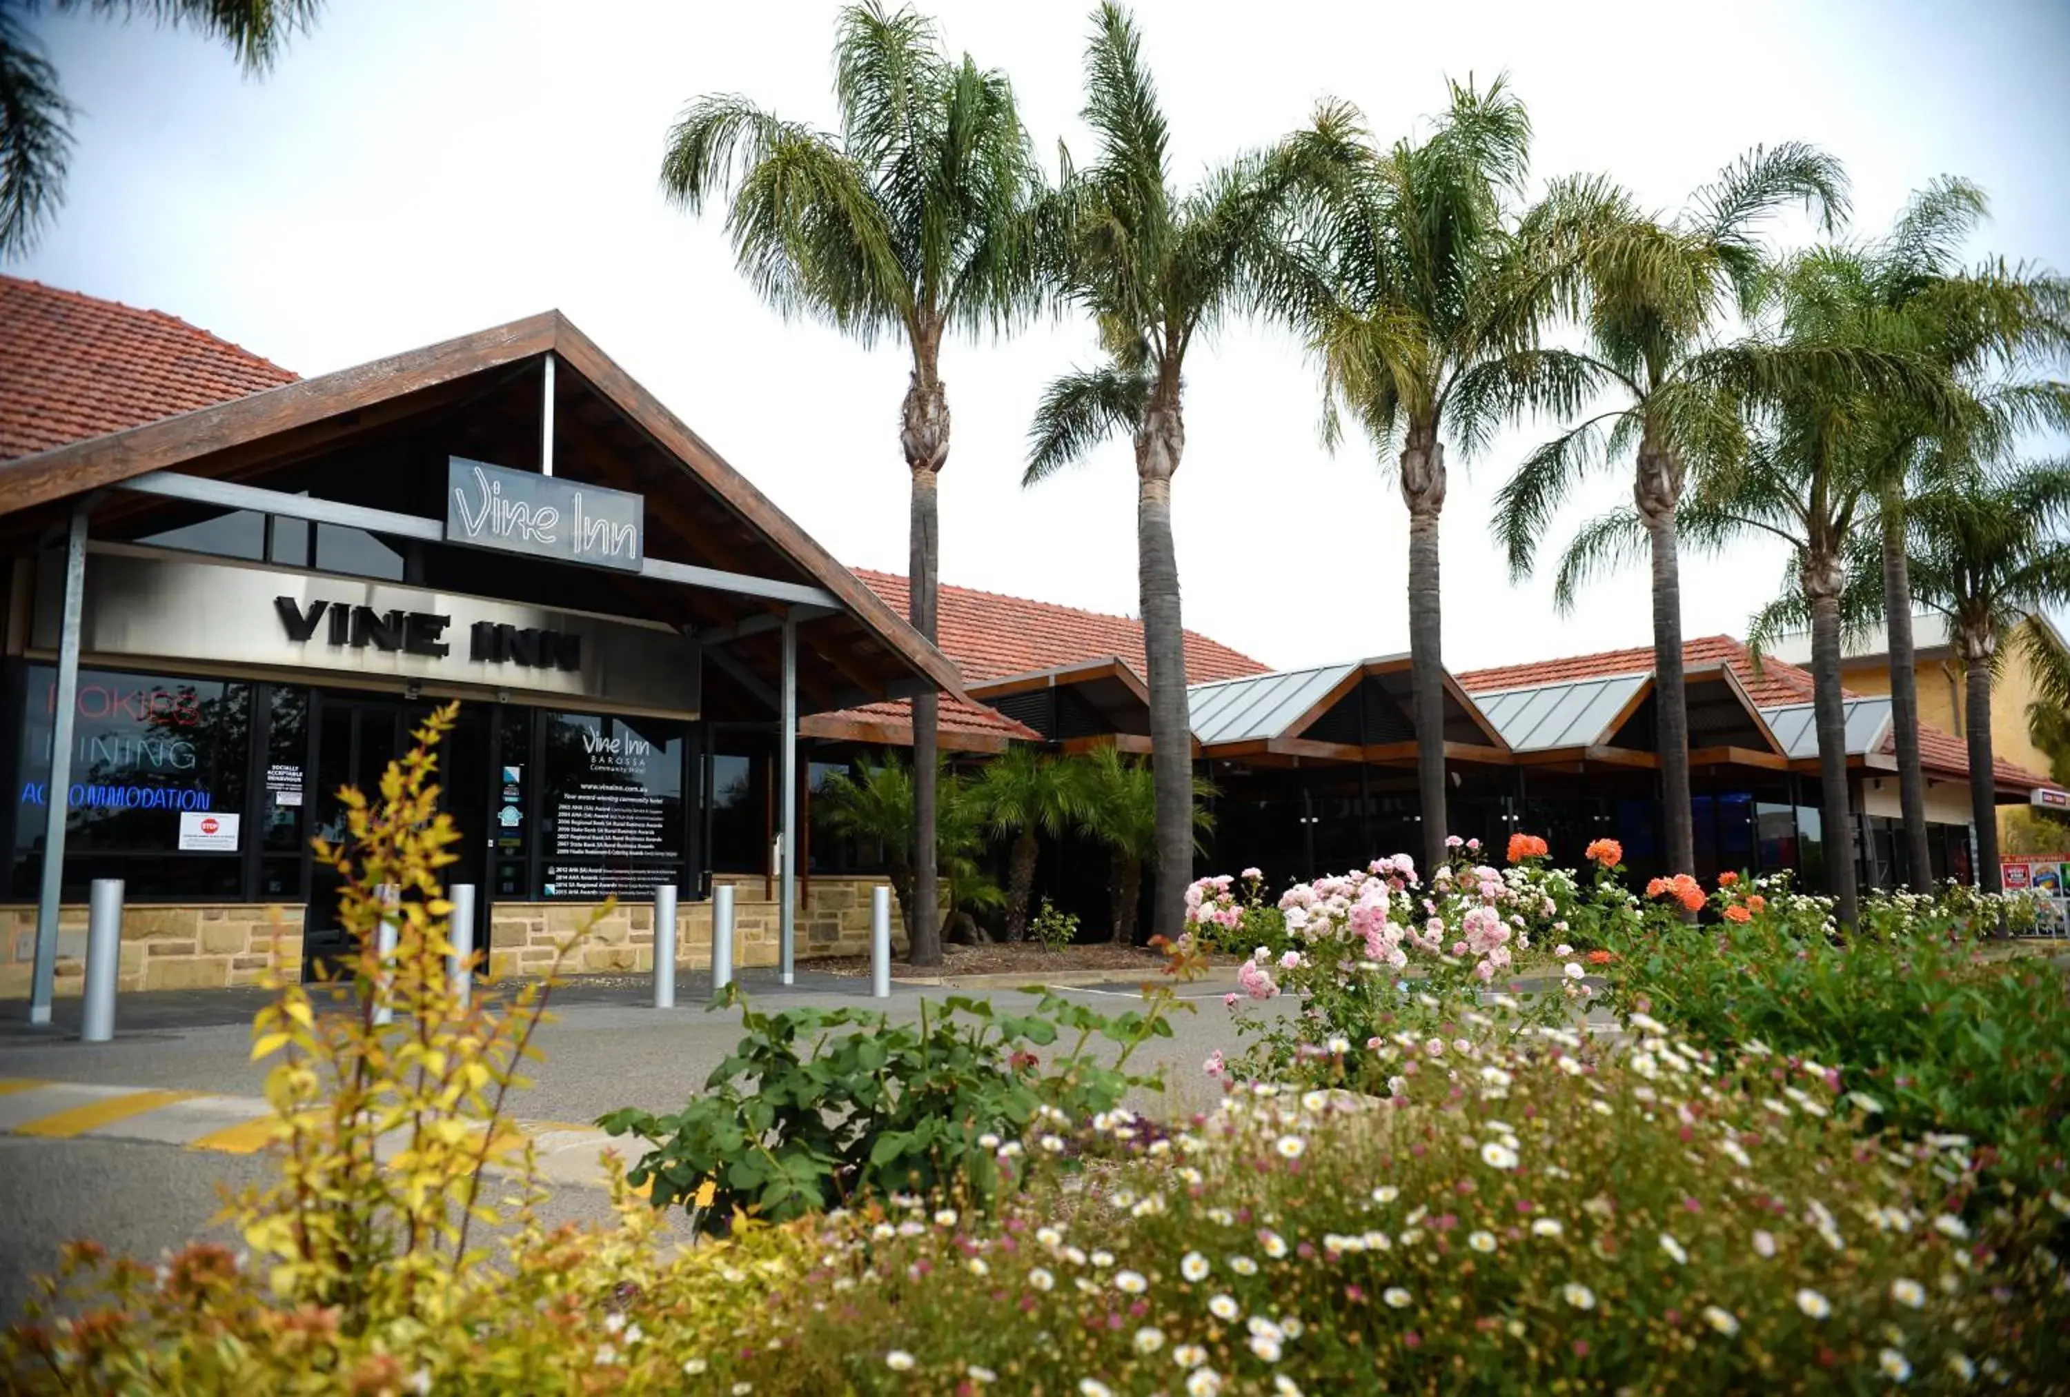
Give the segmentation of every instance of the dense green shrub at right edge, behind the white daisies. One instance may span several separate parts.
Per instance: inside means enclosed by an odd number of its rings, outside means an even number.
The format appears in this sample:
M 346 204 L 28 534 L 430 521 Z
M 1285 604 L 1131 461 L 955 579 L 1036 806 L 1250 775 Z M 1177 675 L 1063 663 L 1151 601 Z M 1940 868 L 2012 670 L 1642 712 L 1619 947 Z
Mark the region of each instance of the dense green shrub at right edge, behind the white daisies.
M 1660 919 L 1623 940 L 1619 1010 L 1724 1049 L 1762 1043 L 1861 1087 L 1911 1134 L 1973 1136 L 2022 1184 L 2070 1165 L 2070 981 L 2043 958 L 1985 960 L 1964 933 L 1995 917 L 1946 902 L 1849 940 L 1793 898 L 1747 921 Z M 1865 915 L 1865 923 L 1869 917 Z

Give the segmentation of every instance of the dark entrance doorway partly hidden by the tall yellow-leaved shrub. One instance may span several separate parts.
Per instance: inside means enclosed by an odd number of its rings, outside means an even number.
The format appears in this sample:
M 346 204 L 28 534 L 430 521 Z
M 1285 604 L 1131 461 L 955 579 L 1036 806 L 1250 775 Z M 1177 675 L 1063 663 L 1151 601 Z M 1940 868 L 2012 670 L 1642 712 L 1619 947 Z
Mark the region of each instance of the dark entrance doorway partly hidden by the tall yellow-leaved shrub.
M 315 691 L 310 695 L 310 782 L 315 803 L 310 830 L 329 844 L 346 840 L 346 803 L 342 786 L 354 786 L 368 801 L 381 799 L 381 774 L 389 762 L 410 751 L 410 735 L 431 716 L 433 704 L 364 697 L 358 693 Z M 474 946 L 486 964 L 489 952 L 489 851 L 495 842 L 491 826 L 489 737 L 491 706 L 462 704 L 453 731 L 437 747 L 439 811 L 451 815 L 460 842 L 451 844 L 455 863 L 443 871 L 447 888 L 474 884 Z M 308 859 L 308 913 L 302 933 L 302 977 L 335 979 L 350 975 L 354 946 L 337 921 L 339 875 Z

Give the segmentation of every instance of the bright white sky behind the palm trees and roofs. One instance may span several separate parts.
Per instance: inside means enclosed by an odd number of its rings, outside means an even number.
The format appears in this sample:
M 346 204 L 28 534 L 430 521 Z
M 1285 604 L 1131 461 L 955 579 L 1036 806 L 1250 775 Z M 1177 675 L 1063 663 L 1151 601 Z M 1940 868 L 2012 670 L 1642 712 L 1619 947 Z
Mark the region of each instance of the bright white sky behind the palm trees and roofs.
M 1087 4 L 923 6 L 1004 66 L 1039 147 L 1078 124 Z M 6 271 L 180 315 L 304 375 L 559 306 L 836 557 L 905 571 L 905 358 L 785 325 L 733 271 L 718 219 L 656 192 L 662 135 L 708 91 L 832 126 L 830 0 L 596 4 L 331 0 L 267 81 L 193 35 L 39 17 L 83 108 L 68 203 Z M 1749 145 L 1813 141 L 1855 180 L 1855 232 L 1964 174 L 1993 201 L 1977 252 L 2070 269 L 2070 6 L 1830 0 L 1681 6 L 1143 0 L 1180 182 L 1298 126 L 1321 95 L 1383 137 L 1443 79 L 1509 70 L 1534 174 L 1608 170 L 1675 209 Z M 1093 360 L 1072 319 L 944 352 L 954 447 L 942 577 L 1136 613 L 1134 470 L 1116 441 L 1023 493 L 1049 375 Z M 1176 480 L 1184 615 L 1275 666 L 1408 648 L 1406 513 L 1370 447 L 1319 445 L 1314 370 L 1281 331 L 1196 350 Z M 1555 424 L 1478 462 L 1445 507 L 1451 668 L 1650 642 L 1644 571 L 1559 617 L 1511 588 L 1486 513 Z M 1629 499 L 1604 478 L 1571 513 Z M 1557 548 L 1565 534 L 1550 540 Z M 1685 631 L 1743 631 L 1780 555 L 1689 561 Z

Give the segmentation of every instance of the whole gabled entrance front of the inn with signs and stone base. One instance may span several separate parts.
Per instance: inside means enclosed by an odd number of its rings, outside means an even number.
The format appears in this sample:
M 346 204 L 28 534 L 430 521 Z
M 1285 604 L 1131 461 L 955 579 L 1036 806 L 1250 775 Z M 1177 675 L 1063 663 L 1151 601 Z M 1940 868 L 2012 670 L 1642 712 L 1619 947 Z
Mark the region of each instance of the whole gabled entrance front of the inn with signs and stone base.
M 0 933 L 25 981 L 0 993 L 27 991 L 31 1022 L 50 1022 L 60 929 L 77 975 L 91 878 L 126 882 L 124 985 L 166 983 L 145 977 L 159 952 L 209 960 L 195 983 L 248 983 L 271 921 L 308 971 L 339 954 L 308 842 L 451 700 L 439 782 L 466 838 L 447 875 L 480 890 L 493 969 L 522 973 L 607 896 L 633 911 L 598 967 L 652 942 L 656 886 L 708 917 L 714 753 L 753 731 L 780 753 L 753 884 L 789 979 L 799 716 L 963 689 L 559 313 L 168 412 L 0 459 L 0 789 L 21 795 L 0 803 Z M 182 838 L 195 811 L 215 830 Z M 753 962 L 762 913 L 741 902 Z

